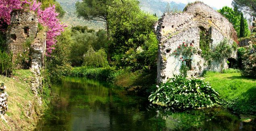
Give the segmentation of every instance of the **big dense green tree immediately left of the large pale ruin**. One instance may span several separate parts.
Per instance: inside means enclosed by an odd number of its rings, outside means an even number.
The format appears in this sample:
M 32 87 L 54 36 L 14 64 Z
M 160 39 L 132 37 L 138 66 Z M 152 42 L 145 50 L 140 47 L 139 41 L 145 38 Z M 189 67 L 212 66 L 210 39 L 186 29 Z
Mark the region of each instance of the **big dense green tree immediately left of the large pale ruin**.
M 157 39 L 152 32 L 157 18 L 142 12 L 137 0 L 114 0 L 112 5 L 108 8 L 112 56 L 120 66 L 148 70 L 157 56 Z M 142 57 L 145 55 L 148 57 Z

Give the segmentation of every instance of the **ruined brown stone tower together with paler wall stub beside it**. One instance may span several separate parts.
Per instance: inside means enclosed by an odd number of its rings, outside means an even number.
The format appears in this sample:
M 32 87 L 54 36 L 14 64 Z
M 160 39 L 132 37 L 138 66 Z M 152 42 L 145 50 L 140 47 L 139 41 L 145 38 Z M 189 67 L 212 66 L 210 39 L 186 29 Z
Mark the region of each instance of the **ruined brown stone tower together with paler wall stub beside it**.
M 39 31 L 38 18 L 35 14 L 24 10 L 14 10 L 11 12 L 11 23 L 6 33 L 6 45 L 8 52 L 12 52 L 12 61 L 23 51 L 24 44 L 31 40 L 31 68 L 41 68 L 44 64 L 46 51 L 46 33 Z

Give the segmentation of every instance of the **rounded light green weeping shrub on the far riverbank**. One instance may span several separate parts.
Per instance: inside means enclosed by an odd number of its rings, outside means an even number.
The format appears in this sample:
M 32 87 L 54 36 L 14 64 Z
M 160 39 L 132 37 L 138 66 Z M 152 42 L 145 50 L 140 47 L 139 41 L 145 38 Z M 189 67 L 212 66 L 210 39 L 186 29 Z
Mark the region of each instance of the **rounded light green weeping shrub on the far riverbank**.
M 107 54 L 104 49 L 94 51 L 92 47 L 85 53 L 83 66 L 90 66 L 94 68 L 108 67 Z

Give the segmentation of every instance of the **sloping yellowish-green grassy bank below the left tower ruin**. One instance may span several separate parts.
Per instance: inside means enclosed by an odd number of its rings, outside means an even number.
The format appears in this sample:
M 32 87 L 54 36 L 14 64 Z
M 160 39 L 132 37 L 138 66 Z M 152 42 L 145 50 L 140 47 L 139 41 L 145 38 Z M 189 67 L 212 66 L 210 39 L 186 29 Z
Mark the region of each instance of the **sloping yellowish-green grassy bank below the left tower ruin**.
M 4 115 L 8 121 L 0 120 L 0 131 L 33 130 L 42 112 L 37 98 L 30 89 L 33 74 L 30 70 L 17 70 L 11 78 L 0 76 L 8 93 L 8 110 Z

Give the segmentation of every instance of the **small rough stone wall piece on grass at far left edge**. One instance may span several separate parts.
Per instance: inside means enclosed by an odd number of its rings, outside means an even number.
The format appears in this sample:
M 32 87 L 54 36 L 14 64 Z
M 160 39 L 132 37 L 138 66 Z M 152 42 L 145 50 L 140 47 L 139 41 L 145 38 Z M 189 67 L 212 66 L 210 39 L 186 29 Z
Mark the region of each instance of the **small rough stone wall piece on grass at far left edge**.
M 4 115 L 4 113 L 6 113 L 6 111 L 8 110 L 8 104 L 7 104 L 8 95 L 5 89 L 6 89 L 6 86 L 0 87 L 0 115 Z

